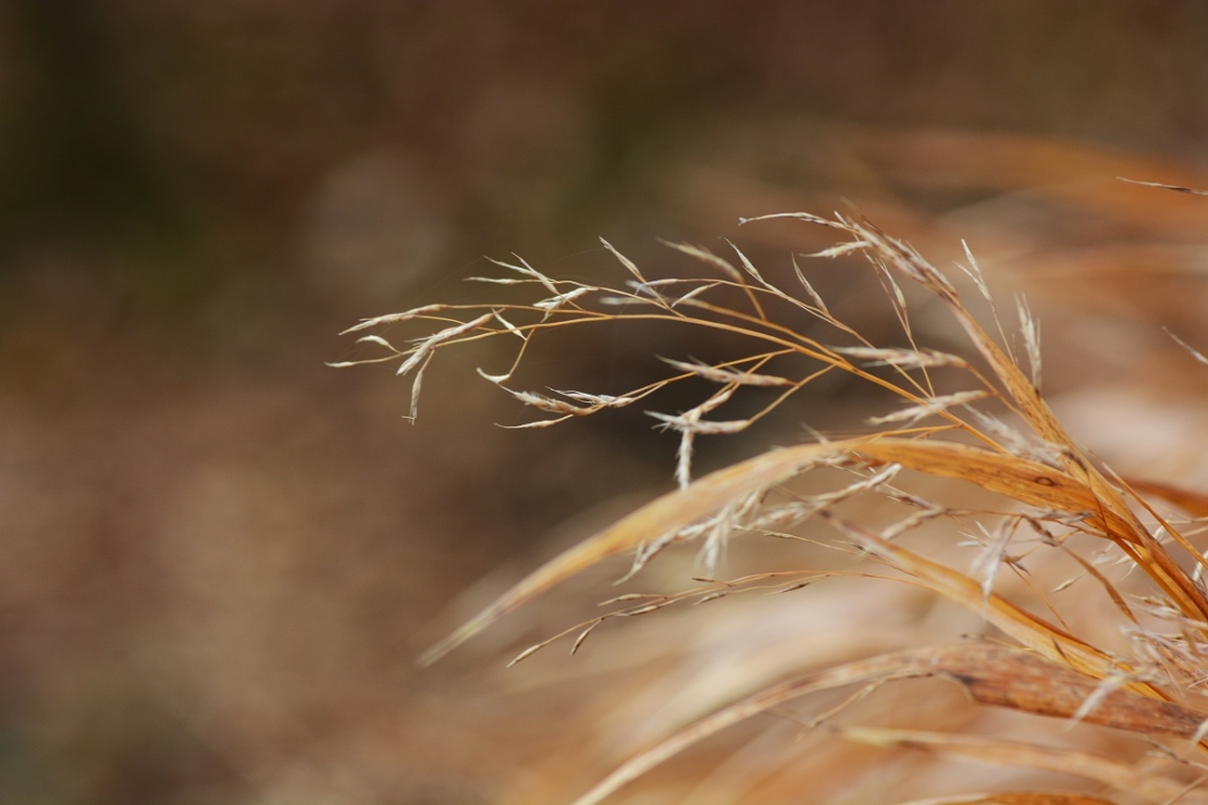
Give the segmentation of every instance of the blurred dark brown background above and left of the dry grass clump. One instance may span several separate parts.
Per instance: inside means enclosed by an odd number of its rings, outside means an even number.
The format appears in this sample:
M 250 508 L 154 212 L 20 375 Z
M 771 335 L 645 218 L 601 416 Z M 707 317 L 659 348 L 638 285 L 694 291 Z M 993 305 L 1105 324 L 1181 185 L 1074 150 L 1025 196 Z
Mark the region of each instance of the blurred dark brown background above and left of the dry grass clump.
M 492 346 L 410 427 L 410 384 L 324 366 L 336 333 L 481 298 L 483 255 L 611 272 L 597 235 L 783 263 L 825 240 L 739 216 L 849 199 L 1028 290 L 1055 391 L 1180 377 L 1151 355 L 1204 332 L 1208 200 L 1115 176 L 1208 186 L 1204 42 L 1192 1 L 0 7 L 0 801 L 525 801 L 579 700 L 492 695 L 496 651 L 565 613 L 413 658 L 469 585 L 668 489 L 675 439 L 495 427 Z M 530 377 L 615 392 L 645 351 Z

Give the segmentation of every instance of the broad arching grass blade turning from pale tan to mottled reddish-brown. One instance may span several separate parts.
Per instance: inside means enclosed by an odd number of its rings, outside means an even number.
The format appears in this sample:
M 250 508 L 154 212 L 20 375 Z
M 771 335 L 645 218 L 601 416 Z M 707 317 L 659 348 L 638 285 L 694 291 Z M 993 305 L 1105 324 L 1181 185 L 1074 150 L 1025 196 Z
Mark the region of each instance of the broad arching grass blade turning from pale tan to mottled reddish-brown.
M 965 643 L 884 654 L 784 682 L 724 707 L 635 756 L 573 805 L 597 805 L 689 746 L 751 716 L 803 695 L 850 684 L 942 677 L 982 704 L 1069 718 L 1098 689 L 1096 679 L 1035 654 L 989 643 Z M 1203 716 L 1186 707 L 1117 689 L 1082 721 L 1144 735 L 1197 735 Z

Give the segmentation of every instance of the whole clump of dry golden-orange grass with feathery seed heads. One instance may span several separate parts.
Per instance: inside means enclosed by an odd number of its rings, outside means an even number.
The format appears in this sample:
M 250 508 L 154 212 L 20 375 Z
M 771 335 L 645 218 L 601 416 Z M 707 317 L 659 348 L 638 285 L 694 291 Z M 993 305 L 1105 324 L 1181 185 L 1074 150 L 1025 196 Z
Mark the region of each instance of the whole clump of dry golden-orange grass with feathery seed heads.
M 854 745 L 1061 772 L 1044 777 L 1043 789 L 995 783 L 998 791 L 946 793 L 929 803 L 1208 801 L 1208 789 L 1201 786 L 1208 780 L 1202 754 L 1208 748 L 1208 699 L 1201 692 L 1208 678 L 1208 590 L 1202 579 L 1208 561 L 1195 544 L 1196 521 L 1184 517 L 1208 513 L 1208 500 L 1119 477 L 1070 438 L 1041 396 L 1036 322 L 1021 301 L 1012 323 L 1005 323 L 968 249 L 956 276 L 972 302 L 963 301 L 953 279 L 911 246 L 863 217 L 767 217 L 830 227 L 842 238 L 814 257 L 865 258 L 885 287 L 900 323 L 900 344 L 870 343 L 841 321 L 796 259 L 789 287 L 767 279 L 732 244 L 726 253 L 668 244 L 704 268 L 703 276 L 684 279 L 649 275 L 604 243 L 626 275 L 616 287 L 553 279 L 523 261 L 499 263 L 504 276 L 480 279 L 535 288 L 541 298 L 523 304 L 430 304 L 349 331 L 385 333 L 360 337 L 385 350 L 383 356 L 348 363 L 401 362 L 399 373 L 413 378 L 412 418 L 434 356 L 487 338 L 516 344 L 509 371 L 480 374 L 540 412 L 527 427 L 639 404 L 672 384 L 712 384 L 712 393 L 687 410 L 651 413 L 661 427 L 679 434 L 675 491 L 533 571 L 422 661 L 436 661 L 611 556 L 632 558 L 629 578 L 668 547 L 695 543 L 699 555 L 684 587 L 614 597 L 598 617 L 525 649 L 517 661 L 557 640 L 577 651 L 606 622 L 657 618 L 667 614 L 661 611 L 743 593 L 792 591 L 794 606 L 808 606 L 812 590 L 840 579 L 867 585 L 889 579 L 924 590 L 971 613 L 980 634 L 929 635 L 920 629 L 878 653 L 885 641 L 873 640 L 877 628 L 870 619 L 866 655 L 820 653 L 834 661 L 811 663 L 803 672 L 747 690 L 687 723 L 667 725 L 576 805 L 608 799 L 687 747 L 757 713 L 780 714 L 795 721 L 802 734 L 826 733 Z M 966 354 L 919 343 L 908 303 L 917 297 L 907 292 L 910 286 L 925 291 L 954 320 L 970 345 Z M 991 327 L 980 323 L 974 307 L 985 310 L 981 317 Z M 802 316 L 821 322 L 832 336 L 820 339 L 782 323 Z M 708 328 L 750 349 L 743 357 L 718 362 L 663 357 L 663 379 L 620 393 L 512 387 L 535 338 L 557 337 L 571 326 L 627 321 Z M 406 346 L 391 340 L 399 326 L 417 323 L 434 327 Z M 808 442 L 693 474 L 693 448 L 701 437 L 745 431 L 831 373 L 866 381 L 899 403 L 855 436 L 814 433 Z M 726 418 L 727 404 L 744 392 L 759 395 L 762 407 Z M 982 491 L 966 485 L 956 502 L 941 502 L 939 490 L 951 490 L 928 478 L 948 485 L 966 482 Z M 1184 514 L 1175 517 L 1160 500 Z M 803 564 L 719 578 L 727 546 L 757 536 L 796 541 Z M 954 566 L 956 546 L 963 546 L 971 561 Z M 840 718 L 890 683 L 920 678 L 954 683 L 976 702 L 1055 719 L 1044 722 L 1053 725 L 1053 736 L 1070 724 L 1122 730 L 1137 736 L 1142 752 L 1113 758 L 1046 742 L 1045 733 L 1015 740 L 941 731 L 929 723 L 887 727 Z M 802 716 L 786 708 L 797 700 L 823 704 Z M 734 792 L 753 787 L 727 791 L 725 797 L 737 799 Z M 814 801 L 807 792 L 801 797 L 798 801 Z

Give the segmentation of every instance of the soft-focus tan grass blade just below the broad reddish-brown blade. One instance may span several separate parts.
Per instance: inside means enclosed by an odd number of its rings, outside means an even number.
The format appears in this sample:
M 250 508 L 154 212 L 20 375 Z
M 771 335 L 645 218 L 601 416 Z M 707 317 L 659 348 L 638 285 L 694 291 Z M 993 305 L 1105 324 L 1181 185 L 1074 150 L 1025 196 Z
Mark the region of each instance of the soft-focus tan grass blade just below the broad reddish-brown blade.
M 1075 749 L 999 741 L 978 735 L 949 735 L 865 727 L 846 728 L 841 730 L 841 734 L 848 740 L 870 746 L 908 747 L 1004 766 L 1076 775 L 1151 803 L 1172 803 L 1175 799 L 1180 803 L 1208 801 L 1203 792 L 1186 791 L 1185 784 L 1154 775 L 1136 764 L 1121 763 Z M 988 801 L 999 800 L 991 799 Z

